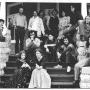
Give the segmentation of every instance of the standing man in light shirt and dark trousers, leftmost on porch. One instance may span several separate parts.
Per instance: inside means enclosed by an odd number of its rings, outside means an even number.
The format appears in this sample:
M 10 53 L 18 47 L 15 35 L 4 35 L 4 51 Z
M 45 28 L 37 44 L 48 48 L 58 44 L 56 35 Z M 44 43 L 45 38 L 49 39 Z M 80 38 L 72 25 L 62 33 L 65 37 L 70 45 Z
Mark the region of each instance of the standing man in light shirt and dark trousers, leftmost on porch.
M 18 53 L 19 50 L 23 50 L 24 46 L 24 35 L 25 30 L 27 28 L 27 21 L 26 16 L 23 15 L 23 8 L 19 8 L 19 13 L 15 16 L 15 39 L 16 39 L 16 45 L 15 45 L 15 52 Z M 19 49 L 19 40 L 20 40 L 20 49 Z

